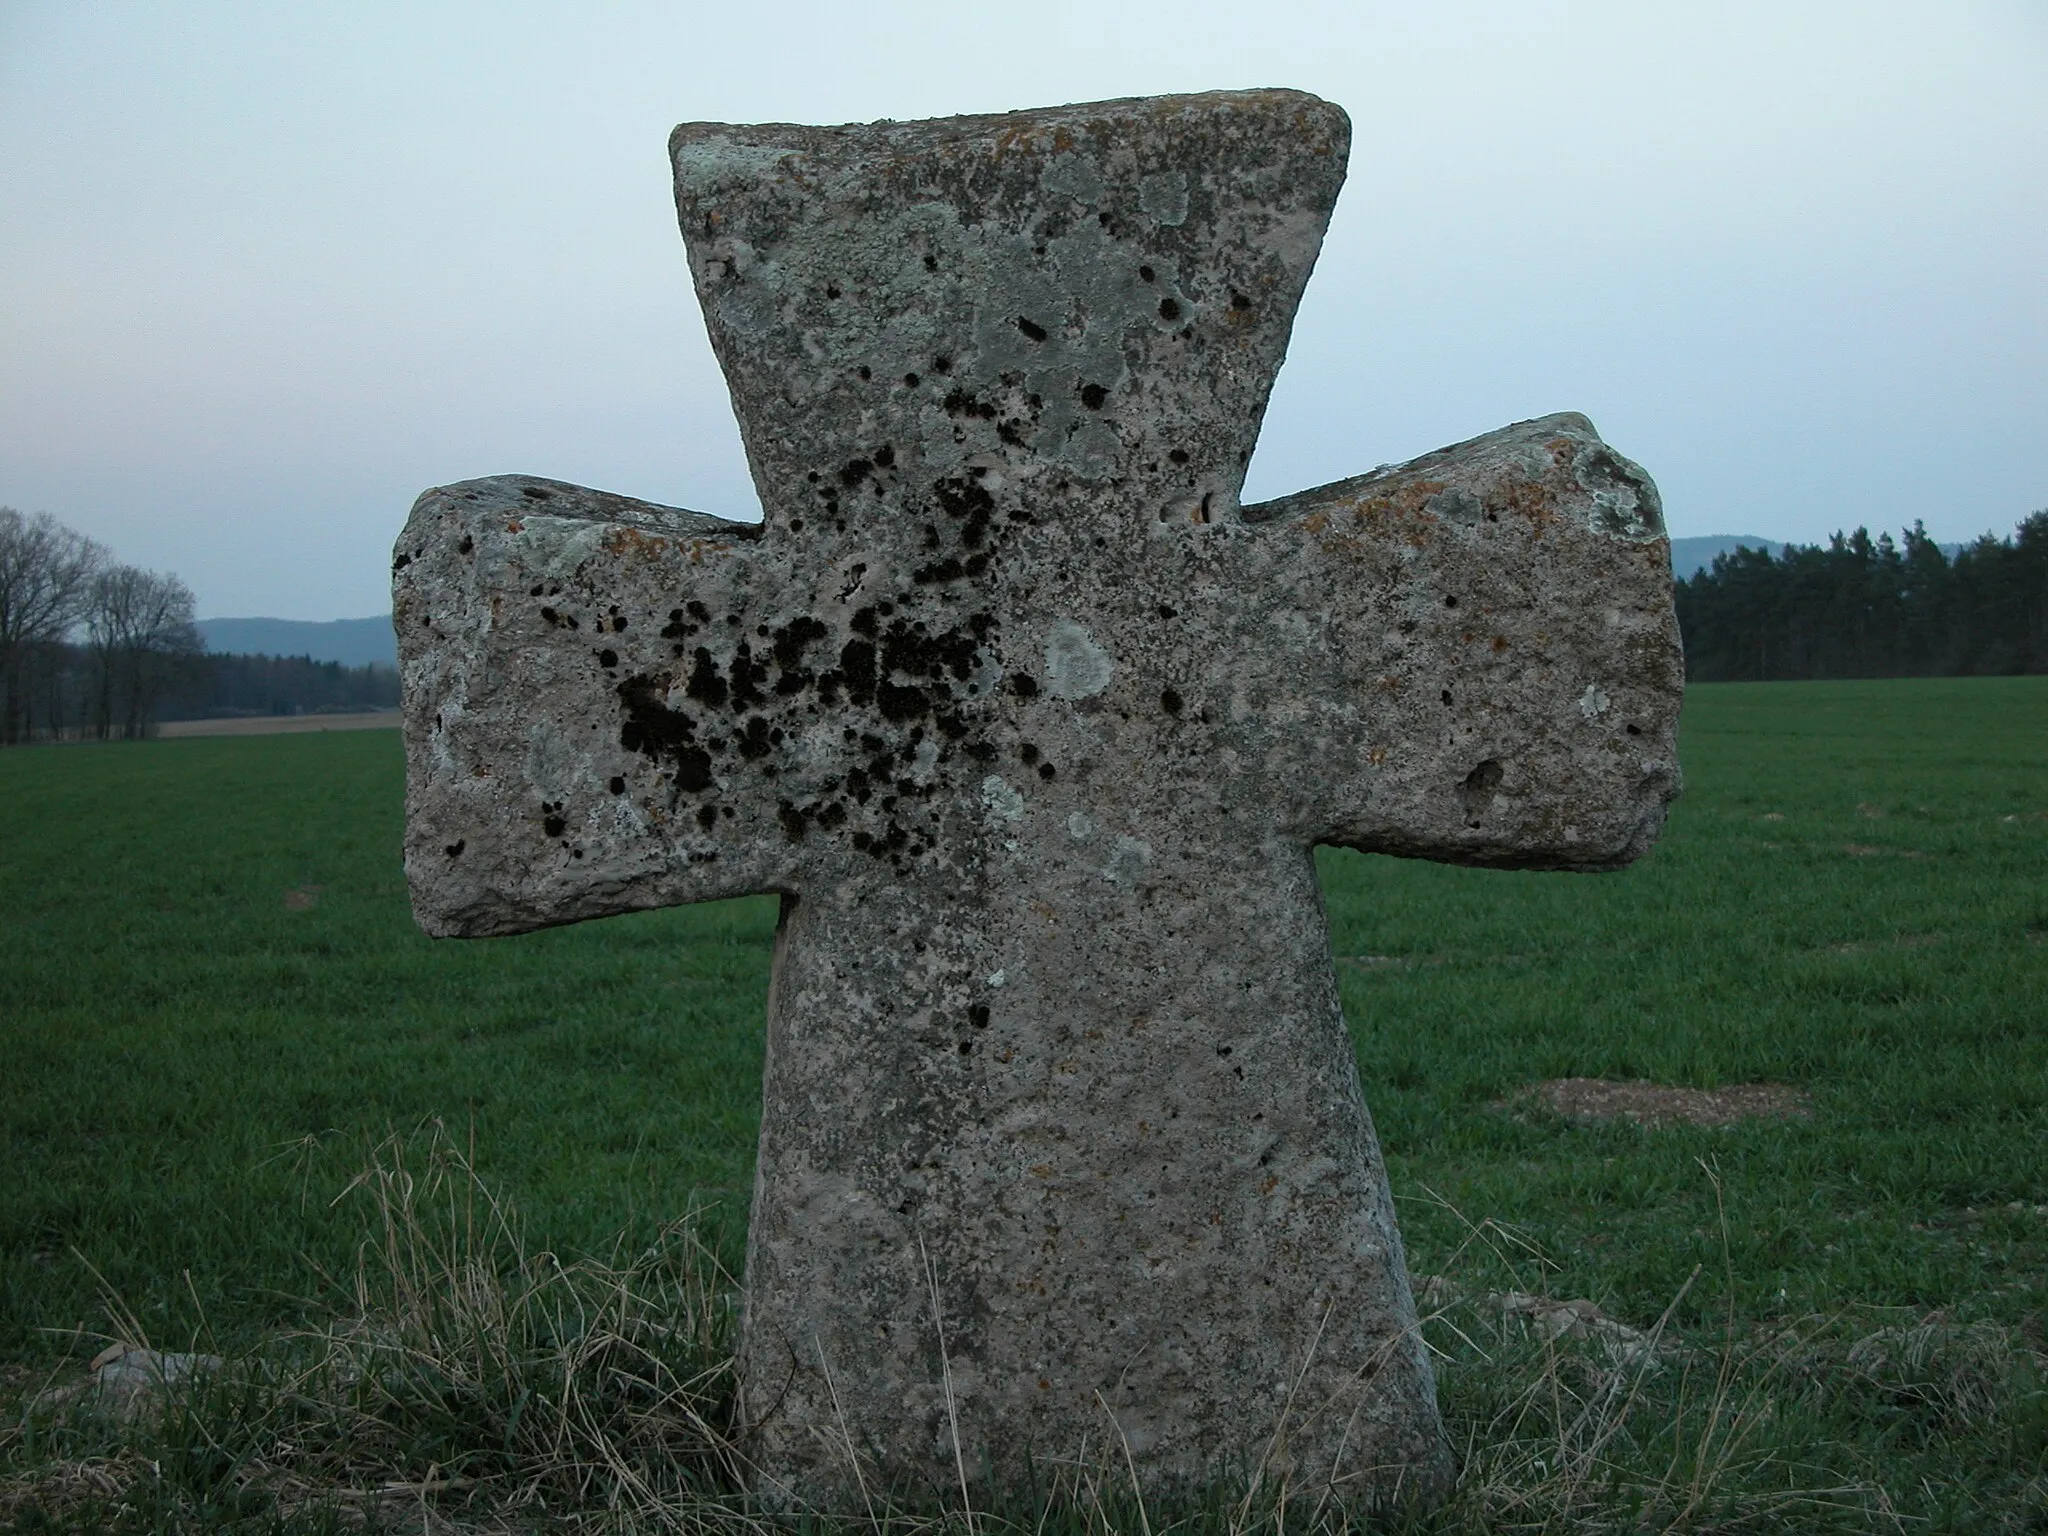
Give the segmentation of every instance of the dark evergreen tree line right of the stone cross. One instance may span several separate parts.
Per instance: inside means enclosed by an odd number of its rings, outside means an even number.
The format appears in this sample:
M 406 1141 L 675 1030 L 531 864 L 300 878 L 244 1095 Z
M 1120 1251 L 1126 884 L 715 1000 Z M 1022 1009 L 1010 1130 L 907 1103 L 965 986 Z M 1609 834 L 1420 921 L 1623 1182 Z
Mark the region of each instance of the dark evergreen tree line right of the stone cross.
M 1694 682 L 2048 672 L 2048 510 L 1954 559 L 1919 522 L 1737 549 L 1675 596 Z

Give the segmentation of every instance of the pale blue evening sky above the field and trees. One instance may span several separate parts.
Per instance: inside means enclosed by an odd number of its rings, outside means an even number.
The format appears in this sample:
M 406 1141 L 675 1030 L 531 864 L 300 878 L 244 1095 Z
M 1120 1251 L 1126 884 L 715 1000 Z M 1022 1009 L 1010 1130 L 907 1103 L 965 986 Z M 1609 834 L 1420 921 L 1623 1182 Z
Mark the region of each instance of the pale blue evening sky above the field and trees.
M 2048 506 L 2042 0 L 0 0 L 0 504 L 289 618 L 453 479 L 758 516 L 674 123 L 1229 86 L 1354 123 L 1247 500 L 1583 410 L 1673 535 Z

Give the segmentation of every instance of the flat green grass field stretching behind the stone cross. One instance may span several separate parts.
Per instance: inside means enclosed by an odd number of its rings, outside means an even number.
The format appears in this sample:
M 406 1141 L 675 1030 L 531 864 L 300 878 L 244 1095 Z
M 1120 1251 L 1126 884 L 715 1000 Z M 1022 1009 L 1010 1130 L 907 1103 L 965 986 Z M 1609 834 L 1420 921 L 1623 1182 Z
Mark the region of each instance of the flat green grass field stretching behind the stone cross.
M 1939 1313 L 2040 1350 L 2048 678 L 1702 686 L 1683 766 L 1622 874 L 1325 850 L 1411 1268 L 1509 1223 L 1522 1286 L 1642 1325 L 1700 1266 L 1681 1333 Z M 772 901 L 430 944 L 399 795 L 387 731 L 0 754 L 16 1389 L 96 1348 L 94 1270 L 164 1348 L 301 1321 L 362 1235 L 334 1194 L 365 1145 L 432 1116 L 535 1245 L 696 1204 L 737 1262 Z M 1788 1083 L 1812 1116 L 1579 1124 L 1516 1098 L 1552 1077 Z M 1909 1419 L 1866 1425 L 1901 1509 L 2048 1522 L 2032 1432 L 1978 1475 L 1991 1440 Z

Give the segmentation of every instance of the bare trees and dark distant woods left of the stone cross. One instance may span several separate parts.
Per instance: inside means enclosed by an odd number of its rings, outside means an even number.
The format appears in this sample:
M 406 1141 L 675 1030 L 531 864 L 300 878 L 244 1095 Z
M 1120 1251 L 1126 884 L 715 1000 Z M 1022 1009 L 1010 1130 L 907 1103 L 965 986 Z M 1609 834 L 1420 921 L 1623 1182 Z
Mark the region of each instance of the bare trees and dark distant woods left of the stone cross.
M 0 745 L 133 741 L 162 719 L 397 705 L 391 668 L 209 655 L 193 590 L 47 512 L 0 508 Z

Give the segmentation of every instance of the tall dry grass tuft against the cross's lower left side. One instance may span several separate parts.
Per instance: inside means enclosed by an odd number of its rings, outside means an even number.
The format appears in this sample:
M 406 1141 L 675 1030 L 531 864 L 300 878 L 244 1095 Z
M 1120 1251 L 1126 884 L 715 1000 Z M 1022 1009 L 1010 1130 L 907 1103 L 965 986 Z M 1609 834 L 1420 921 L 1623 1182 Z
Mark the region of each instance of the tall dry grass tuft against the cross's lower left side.
M 655 1530 L 735 1487 L 737 1286 L 694 1221 L 610 1262 L 528 1251 L 440 1124 L 375 1147 L 350 1196 L 373 1237 L 336 1323 L 305 1339 L 307 1362 L 276 1393 L 324 1419 L 297 1446 L 297 1477 L 500 1509 L 598 1507 Z

